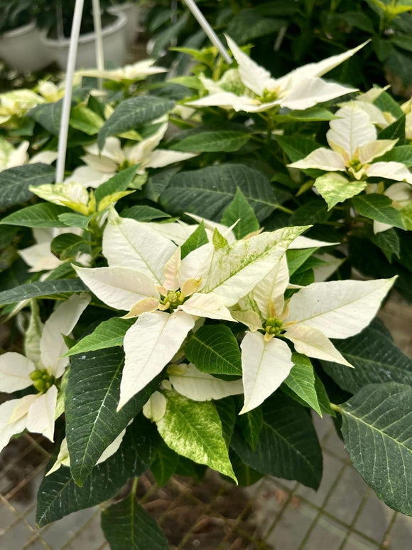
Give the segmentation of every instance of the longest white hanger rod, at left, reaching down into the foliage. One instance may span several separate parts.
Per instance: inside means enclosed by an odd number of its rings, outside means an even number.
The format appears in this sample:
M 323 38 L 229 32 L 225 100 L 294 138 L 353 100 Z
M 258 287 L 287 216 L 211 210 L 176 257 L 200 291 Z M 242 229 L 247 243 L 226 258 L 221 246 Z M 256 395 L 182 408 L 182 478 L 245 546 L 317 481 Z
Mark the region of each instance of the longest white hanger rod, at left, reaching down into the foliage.
M 70 107 L 72 103 L 73 77 L 77 57 L 77 43 L 80 36 L 84 0 L 76 0 L 75 13 L 73 14 L 72 33 L 70 35 L 70 48 L 66 68 L 66 91 L 63 97 L 63 110 L 60 120 L 58 162 L 56 166 L 56 183 L 61 184 L 65 176 L 67 134 L 69 133 Z

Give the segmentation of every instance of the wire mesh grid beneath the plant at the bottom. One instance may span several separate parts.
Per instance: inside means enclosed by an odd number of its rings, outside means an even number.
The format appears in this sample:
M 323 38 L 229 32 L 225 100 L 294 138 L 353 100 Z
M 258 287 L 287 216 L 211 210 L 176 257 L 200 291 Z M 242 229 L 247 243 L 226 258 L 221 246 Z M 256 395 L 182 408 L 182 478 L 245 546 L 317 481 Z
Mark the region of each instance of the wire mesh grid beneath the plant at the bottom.
M 143 475 L 140 502 L 156 517 L 170 549 L 408 550 L 412 518 L 393 512 L 368 489 L 329 419 L 315 423 L 325 464 L 318 492 L 273 477 L 238 488 L 211 471 L 202 482 L 176 476 L 159 488 Z M 99 525 L 104 505 L 36 529 L 36 490 L 49 445 L 25 434 L 0 456 L 0 548 L 108 550 Z

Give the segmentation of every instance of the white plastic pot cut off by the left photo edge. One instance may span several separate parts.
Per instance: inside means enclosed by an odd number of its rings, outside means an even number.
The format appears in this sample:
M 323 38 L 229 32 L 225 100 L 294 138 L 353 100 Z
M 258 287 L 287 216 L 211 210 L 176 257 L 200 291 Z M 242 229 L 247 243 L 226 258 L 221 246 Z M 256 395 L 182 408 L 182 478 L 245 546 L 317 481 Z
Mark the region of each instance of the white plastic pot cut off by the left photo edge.
M 20 73 L 38 70 L 50 63 L 35 23 L 28 23 L 1 35 L 0 57 Z

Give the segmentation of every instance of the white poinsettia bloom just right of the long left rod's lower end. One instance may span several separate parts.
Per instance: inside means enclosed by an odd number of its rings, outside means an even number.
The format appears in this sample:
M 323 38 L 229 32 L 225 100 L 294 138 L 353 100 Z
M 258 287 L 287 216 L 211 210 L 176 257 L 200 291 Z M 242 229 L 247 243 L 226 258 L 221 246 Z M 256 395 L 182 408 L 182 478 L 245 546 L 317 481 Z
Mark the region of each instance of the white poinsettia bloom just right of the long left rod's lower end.
M 133 145 L 121 147 L 118 137 L 108 137 L 104 142 L 102 151 L 99 151 L 97 143 L 85 147 L 86 154 L 81 157 L 86 166 L 79 166 L 65 181 L 75 181 L 85 187 L 98 187 L 104 181 L 110 179 L 119 169 L 127 168 L 133 164 L 139 164 L 138 174 L 144 174 L 146 168 L 162 168 L 195 157 L 193 153 L 183 153 L 170 149 L 156 149 L 163 139 L 168 122 L 166 117 L 153 122 L 159 127 L 146 139 L 142 139 Z

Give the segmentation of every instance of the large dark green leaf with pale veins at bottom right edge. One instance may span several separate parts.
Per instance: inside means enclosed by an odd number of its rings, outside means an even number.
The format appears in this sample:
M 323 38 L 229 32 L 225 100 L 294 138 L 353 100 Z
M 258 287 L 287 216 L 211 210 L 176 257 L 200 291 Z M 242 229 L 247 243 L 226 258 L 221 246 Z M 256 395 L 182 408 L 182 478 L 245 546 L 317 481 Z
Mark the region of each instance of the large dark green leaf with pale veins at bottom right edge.
M 341 408 L 354 467 L 385 504 L 412 515 L 411 386 L 371 384 Z

